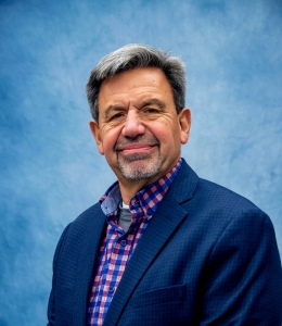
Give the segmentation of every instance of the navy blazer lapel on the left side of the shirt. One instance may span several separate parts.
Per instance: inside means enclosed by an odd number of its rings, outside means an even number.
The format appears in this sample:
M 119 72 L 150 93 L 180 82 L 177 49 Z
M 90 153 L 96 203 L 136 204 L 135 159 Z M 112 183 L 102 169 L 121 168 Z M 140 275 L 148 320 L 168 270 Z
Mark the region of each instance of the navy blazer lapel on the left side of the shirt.
M 92 210 L 91 210 L 92 209 Z M 74 250 L 78 251 L 79 260 L 74 292 L 73 321 L 74 325 L 86 325 L 89 304 L 89 292 L 93 284 L 94 265 L 100 249 L 103 229 L 105 227 L 105 215 L 100 204 L 86 211 L 81 216 L 84 224 L 84 238 L 77 242 Z M 79 218 L 79 217 L 78 217 Z M 80 236 L 81 238 L 81 236 Z

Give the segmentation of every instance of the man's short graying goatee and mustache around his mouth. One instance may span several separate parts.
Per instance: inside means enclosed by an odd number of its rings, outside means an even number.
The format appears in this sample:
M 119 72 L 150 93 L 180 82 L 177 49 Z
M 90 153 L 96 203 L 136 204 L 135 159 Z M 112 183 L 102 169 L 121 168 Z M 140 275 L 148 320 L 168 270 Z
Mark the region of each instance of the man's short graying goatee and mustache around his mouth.
M 118 151 L 129 143 L 145 142 L 154 146 L 157 149 L 153 153 L 133 153 L 130 155 L 123 156 Z M 153 135 L 137 136 L 133 139 L 125 139 L 117 141 L 115 149 L 117 151 L 117 165 L 121 175 L 128 180 L 142 180 L 150 179 L 158 174 L 162 167 L 161 154 L 159 154 L 159 141 Z

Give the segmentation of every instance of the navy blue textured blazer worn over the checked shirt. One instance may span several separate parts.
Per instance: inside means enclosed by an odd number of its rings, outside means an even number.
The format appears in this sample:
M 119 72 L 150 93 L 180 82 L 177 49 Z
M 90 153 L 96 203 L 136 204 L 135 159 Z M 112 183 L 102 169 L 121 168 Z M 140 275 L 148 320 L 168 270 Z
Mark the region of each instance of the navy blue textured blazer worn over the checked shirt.
M 105 216 L 100 204 L 64 230 L 48 325 L 87 325 Z M 104 321 L 113 325 L 282 324 L 282 269 L 269 217 L 182 167 L 131 256 Z

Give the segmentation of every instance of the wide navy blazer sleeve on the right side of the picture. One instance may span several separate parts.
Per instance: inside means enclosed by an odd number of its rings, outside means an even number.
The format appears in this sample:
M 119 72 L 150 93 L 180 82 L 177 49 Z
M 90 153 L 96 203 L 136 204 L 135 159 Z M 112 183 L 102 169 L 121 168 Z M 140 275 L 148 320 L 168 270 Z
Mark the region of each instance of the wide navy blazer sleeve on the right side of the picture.
M 282 325 L 282 269 L 273 226 L 258 209 L 233 218 L 213 248 L 201 326 Z

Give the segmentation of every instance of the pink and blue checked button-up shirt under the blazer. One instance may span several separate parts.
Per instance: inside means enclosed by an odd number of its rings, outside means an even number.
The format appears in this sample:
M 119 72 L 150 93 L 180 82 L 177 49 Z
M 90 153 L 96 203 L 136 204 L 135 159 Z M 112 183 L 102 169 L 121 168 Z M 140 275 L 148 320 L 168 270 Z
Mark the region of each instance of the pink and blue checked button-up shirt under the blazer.
M 126 265 L 175 179 L 181 163 L 182 160 L 180 159 L 169 173 L 130 199 L 129 209 L 132 214 L 132 222 L 127 233 L 117 223 L 118 206 L 121 201 L 118 183 L 116 181 L 111 186 L 101 198 L 101 208 L 106 215 L 107 228 L 106 236 L 100 247 L 98 268 L 90 294 L 89 325 L 103 324 Z

